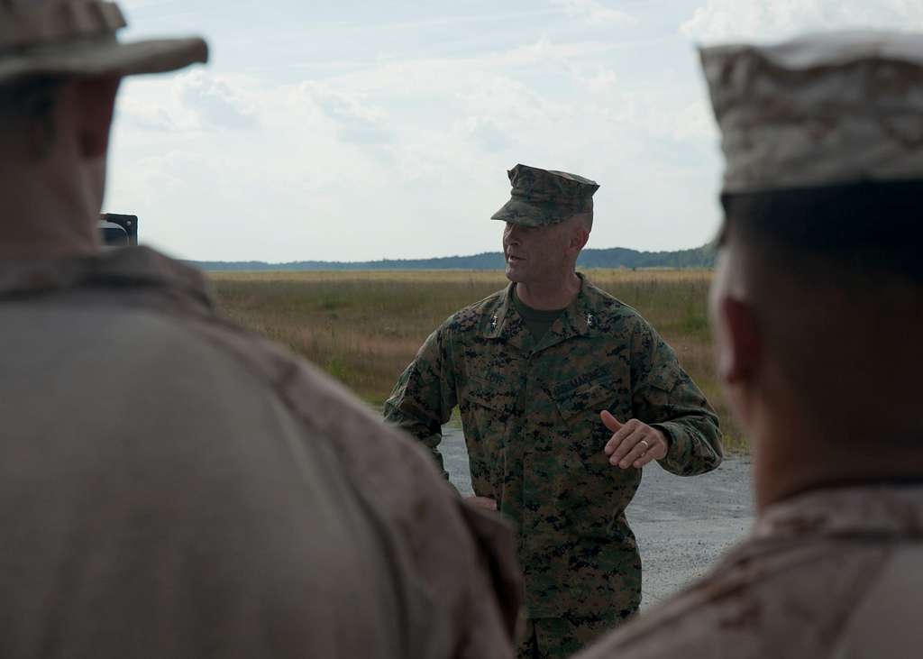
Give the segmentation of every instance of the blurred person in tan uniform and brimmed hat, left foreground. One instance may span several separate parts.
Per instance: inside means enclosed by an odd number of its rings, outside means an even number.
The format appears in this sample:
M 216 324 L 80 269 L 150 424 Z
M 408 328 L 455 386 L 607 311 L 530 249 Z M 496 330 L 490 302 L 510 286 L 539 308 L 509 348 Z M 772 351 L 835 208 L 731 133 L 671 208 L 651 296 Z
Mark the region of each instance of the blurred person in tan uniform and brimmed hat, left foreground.
M 123 25 L 0 1 L 0 656 L 509 656 L 506 528 L 197 271 L 99 252 L 119 79 L 207 57 Z

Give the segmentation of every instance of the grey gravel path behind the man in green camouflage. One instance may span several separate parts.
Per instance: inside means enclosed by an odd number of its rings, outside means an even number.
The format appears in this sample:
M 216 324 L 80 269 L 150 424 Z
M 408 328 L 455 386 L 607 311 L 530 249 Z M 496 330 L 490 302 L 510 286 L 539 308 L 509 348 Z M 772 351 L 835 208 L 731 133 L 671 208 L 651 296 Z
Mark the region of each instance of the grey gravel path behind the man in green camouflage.
M 443 429 L 442 454 L 450 479 L 470 494 L 471 475 L 462 431 Z M 747 533 L 752 518 L 750 464 L 729 458 L 712 473 L 680 478 L 658 465 L 645 468 L 628 509 L 641 547 L 642 608 L 699 576 L 728 546 Z

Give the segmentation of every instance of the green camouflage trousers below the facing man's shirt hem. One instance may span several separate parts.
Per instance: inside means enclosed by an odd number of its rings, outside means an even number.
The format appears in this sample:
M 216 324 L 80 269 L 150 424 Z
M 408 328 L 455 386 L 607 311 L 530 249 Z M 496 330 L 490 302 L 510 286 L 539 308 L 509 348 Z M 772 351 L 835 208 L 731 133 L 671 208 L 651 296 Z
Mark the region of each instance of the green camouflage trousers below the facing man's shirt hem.
M 623 621 L 616 616 L 529 618 L 519 645 L 519 659 L 564 659 Z

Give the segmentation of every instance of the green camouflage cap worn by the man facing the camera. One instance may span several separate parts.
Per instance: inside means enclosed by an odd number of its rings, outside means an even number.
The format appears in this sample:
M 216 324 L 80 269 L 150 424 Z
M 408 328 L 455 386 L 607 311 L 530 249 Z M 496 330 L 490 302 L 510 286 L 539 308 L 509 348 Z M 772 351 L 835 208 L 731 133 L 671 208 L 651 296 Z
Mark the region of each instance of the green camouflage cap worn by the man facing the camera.
M 599 186 L 588 178 L 524 164 L 507 174 L 513 186 L 511 197 L 491 220 L 545 226 L 593 210 L 593 193 Z

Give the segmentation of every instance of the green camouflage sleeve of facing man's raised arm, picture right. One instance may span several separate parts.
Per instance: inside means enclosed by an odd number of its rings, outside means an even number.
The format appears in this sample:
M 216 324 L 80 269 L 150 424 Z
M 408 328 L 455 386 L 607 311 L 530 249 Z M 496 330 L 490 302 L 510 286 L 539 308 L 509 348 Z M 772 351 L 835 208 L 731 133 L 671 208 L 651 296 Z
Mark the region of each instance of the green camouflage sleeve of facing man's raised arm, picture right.
M 643 321 L 632 345 L 631 381 L 635 418 L 663 432 L 670 443 L 660 461 L 666 471 L 691 476 L 721 464 L 717 414 L 673 349 Z

